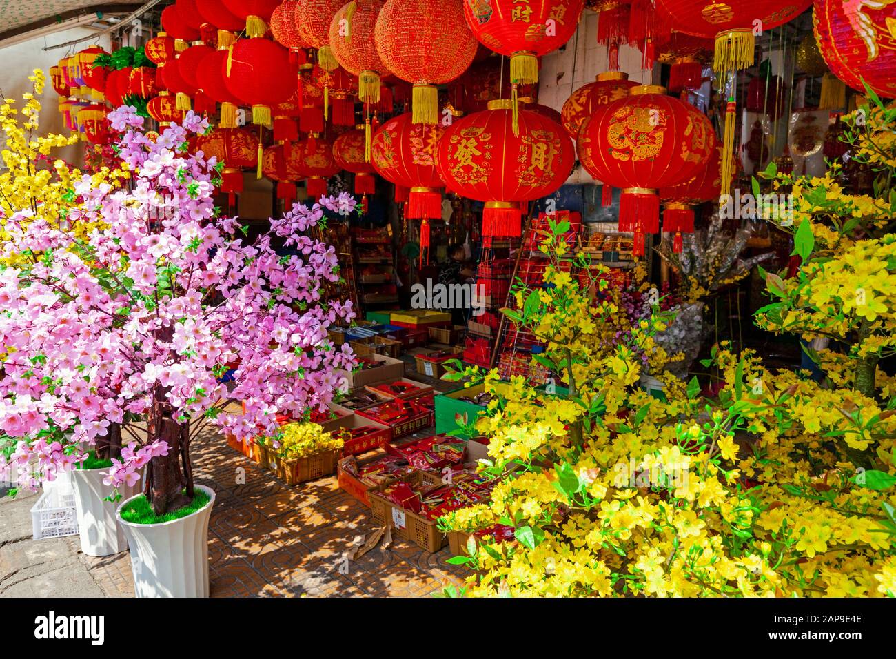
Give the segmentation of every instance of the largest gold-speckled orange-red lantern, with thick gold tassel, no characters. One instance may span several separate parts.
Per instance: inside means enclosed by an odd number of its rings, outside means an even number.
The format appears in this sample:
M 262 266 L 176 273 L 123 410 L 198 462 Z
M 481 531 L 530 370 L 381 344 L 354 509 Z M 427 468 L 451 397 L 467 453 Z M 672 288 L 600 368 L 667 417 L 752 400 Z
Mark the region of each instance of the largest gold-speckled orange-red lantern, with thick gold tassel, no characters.
M 438 90 L 466 71 L 477 42 L 463 0 L 387 0 L 376 21 L 376 49 L 393 74 L 414 85 L 415 124 L 438 123 Z

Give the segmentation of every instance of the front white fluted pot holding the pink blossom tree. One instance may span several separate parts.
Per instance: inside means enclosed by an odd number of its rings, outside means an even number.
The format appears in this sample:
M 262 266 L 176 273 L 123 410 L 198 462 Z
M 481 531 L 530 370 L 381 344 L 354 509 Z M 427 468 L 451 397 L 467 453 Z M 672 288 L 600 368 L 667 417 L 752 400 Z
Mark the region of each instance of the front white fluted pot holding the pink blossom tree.
M 215 492 L 204 485 L 195 488 L 208 494 L 209 502 L 170 522 L 134 524 L 121 518 L 127 501 L 116 509 L 116 519 L 124 527 L 131 547 L 137 597 L 209 596 L 208 534 Z

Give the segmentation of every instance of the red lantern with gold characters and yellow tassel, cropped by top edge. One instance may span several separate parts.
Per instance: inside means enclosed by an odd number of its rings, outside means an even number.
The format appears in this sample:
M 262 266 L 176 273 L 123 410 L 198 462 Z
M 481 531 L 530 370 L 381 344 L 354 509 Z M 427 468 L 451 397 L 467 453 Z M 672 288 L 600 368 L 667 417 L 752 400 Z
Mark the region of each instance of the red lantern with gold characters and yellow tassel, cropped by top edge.
M 510 82 L 538 82 L 538 56 L 563 46 L 576 30 L 582 0 L 467 0 L 473 36 L 510 57 Z

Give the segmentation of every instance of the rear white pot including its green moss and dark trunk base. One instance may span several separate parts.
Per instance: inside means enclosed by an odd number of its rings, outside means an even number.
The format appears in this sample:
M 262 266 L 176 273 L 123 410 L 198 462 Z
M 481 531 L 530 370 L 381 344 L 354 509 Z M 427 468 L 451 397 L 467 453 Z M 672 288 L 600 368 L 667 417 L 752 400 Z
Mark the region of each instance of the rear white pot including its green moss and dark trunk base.
M 105 439 L 105 438 L 104 438 Z M 133 497 L 139 491 L 137 483 L 116 489 L 103 482 L 112 466 L 112 458 L 121 451 L 121 429 L 113 424 L 108 441 L 98 441 L 95 450 L 72 471 L 74 510 L 78 516 L 81 551 L 87 556 L 108 556 L 127 551 L 124 529 L 116 521 L 117 499 Z

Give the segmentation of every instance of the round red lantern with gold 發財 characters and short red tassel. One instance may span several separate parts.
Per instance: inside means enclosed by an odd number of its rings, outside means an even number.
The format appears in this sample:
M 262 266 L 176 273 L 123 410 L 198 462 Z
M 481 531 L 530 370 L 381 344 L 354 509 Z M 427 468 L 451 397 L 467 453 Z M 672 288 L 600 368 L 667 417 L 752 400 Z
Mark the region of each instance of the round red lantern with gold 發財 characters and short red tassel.
M 513 101 L 493 100 L 485 112 L 448 126 L 438 144 L 438 170 L 449 189 L 485 202 L 482 235 L 521 234 L 521 204 L 549 195 L 573 170 L 563 126 L 525 108 L 513 130 Z

